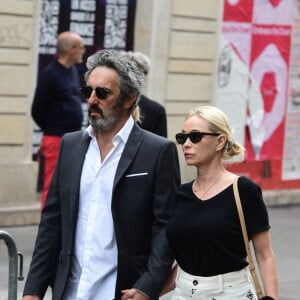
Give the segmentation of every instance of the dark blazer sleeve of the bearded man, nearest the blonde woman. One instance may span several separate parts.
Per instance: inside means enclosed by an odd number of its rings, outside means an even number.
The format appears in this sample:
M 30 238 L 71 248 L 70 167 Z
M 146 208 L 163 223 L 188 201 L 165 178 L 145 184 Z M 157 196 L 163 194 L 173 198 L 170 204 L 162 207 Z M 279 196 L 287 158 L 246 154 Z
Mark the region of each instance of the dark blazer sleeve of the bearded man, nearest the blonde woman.
M 162 149 L 155 175 L 151 254 L 147 271 L 133 286 L 150 299 L 158 299 L 173 263 L 165 229 L 174 211 L 175 192 L 180 184 L 177 148 L 174 143 L 170 142 Z

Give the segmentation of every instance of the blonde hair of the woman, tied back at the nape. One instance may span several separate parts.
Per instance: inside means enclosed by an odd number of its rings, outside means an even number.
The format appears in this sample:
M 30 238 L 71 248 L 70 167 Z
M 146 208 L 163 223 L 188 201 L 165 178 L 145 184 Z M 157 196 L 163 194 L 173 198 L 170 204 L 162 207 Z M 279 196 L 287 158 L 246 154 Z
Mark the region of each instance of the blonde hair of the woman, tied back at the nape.
M 203 105 L 193 108 L 189 111 L 186 119 L 192 116 L 200 116 L 208 122 L 208 128 L 211 132 L 224 134 L 226 143 L 223 148 L 224 159 L 230 159 L 233 156 L 244 158 L 244 147 L 234 139 L 234 130 L 231 128 L 227 116 L 215 106 Z

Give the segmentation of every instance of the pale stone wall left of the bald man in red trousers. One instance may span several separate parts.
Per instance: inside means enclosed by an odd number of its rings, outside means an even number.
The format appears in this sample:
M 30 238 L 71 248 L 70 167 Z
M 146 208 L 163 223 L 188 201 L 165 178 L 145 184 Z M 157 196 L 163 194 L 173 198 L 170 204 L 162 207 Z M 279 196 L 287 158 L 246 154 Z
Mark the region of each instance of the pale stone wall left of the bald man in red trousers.
M 38 0 L 0 1 L 0 225 L 39 218 L 30 116 L 38 12 Z

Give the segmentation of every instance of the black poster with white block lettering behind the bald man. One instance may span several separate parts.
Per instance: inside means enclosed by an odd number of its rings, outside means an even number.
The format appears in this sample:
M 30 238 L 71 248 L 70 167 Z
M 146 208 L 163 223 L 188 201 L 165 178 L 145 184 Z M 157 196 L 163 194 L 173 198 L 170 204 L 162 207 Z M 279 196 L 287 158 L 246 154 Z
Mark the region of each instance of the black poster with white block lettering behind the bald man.
M 41 5 L 39 70 L 55 57 L 56 38 L 63 31 L 83 39 L 81 80 L 86 58 L 97 50 L 133 49 L 136 0 L 43 0 Z

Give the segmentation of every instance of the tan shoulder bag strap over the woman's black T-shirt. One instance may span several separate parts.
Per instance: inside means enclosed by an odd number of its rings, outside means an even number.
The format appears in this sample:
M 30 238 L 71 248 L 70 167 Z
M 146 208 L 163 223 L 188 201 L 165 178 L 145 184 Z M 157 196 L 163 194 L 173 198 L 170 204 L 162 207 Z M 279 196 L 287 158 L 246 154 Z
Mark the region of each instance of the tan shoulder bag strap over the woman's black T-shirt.
M 234 178 L 233 181 L 233 193 L 234 193 L 234 198 L 235 198 L 235 202 L 236 202 L 236 206 L 237 206 L 237 210 L 239 213 L 239 219 L 240 219 L 240 223 L 241 223 L 241 227 L 242 227 L 242 232 L 243 232 L 243 238 L 244 238 L 244 244 L 245 244 L 245 248 L 247 251 L 247 256 L 248 256 L 248 261 L 249 261 L 249 268 L 250 268 L 250 272 L 253 278 L 253 282 L 255 285 L 255 289 L 256 289 L 256 293 L 258 296 L 258 299 L 262 298 L 262 289 L 260 287 L 260 283 L 256 274 L 256 270 L 255 270 L 255 265 L 253 263 L 253 258 L 252 258 L 252 254 L 251 254 L 251 250 L 250 250 L 250 244 L 249 244 L 249 239 L 248 239 L 248 234 L 247 234 L 247 229 L 246 229 L 246 224 L 245 224 L 245 217 L 244 217 L 244 212 L 243 212 L 243 208 L 242 208 L 242 204 L 241 204 L 241 199 L 240 199 L 240 195 L 239 195 L 239 190 L 238 190 L 238 176 L 236 176 Z

